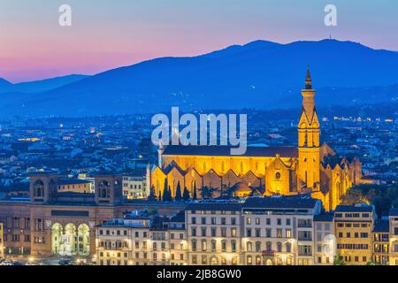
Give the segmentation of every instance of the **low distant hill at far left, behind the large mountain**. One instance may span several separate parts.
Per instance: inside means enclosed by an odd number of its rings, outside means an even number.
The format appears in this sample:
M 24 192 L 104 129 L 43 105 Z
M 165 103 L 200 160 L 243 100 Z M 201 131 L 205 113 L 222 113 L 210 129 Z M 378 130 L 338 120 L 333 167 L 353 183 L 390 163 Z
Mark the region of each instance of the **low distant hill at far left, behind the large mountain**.
M 39 93 L 53 88 L 59 88 L 87 77 L 87 75 L 83 74 L 71 74 L 64 77 L 51 78 L 47 80 L 34 80 L 16 84 L 12 84 L 11 82 L 0 78 L 0 94 L 10 92 L 22 92 L 27 94 Z M 7 83 L 3 84 L 2 80 Z

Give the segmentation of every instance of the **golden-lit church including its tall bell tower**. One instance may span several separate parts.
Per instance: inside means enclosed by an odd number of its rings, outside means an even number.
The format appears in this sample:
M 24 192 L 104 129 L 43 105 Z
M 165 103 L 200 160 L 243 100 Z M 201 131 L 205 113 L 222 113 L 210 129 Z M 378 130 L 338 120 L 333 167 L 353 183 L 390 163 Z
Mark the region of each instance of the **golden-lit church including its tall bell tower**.
M 248 147 L 242 156 L 231 156 L 227 146 L 166 146 L 158 149 L 159 164 L 150 174 L 157 195 L 178 184 L 188 188 L 211 187 L 214 196 L 237 189 L 236 195 L 311 194 L 326 210 L 340 203 L 349 187 L 360 183 L 362 164 L 357 157 L 339 157 L 320 144 L 320 124 L 310 70 L 302 89 L 302 111 L 297 126 L 297 147 Z M 197 196 L 200 197 L 197 192 Z

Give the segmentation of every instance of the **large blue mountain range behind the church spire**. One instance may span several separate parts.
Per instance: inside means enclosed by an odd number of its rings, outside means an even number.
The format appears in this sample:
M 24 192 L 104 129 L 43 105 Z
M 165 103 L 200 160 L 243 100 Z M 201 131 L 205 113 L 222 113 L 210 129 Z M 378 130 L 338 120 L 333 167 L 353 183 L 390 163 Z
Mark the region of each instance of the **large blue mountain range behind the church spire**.
M 336 40 L 256 41 L 197 57 L 152 59 L 39 94 L 3 94 L 0 115 L 299 107 L 307 65 L 318 105 L 398 99 L 398 52 Z

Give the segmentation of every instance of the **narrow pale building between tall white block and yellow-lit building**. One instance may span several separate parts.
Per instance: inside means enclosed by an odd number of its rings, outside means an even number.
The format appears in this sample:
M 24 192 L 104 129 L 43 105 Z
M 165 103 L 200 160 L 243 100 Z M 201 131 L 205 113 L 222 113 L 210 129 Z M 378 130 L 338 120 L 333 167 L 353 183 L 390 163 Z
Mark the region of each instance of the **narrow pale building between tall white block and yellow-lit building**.
M 321 213 L 314 216 L 314 233 L 314 264 L 333 265 L 334 256 L 336 256 L 333 213 Z

